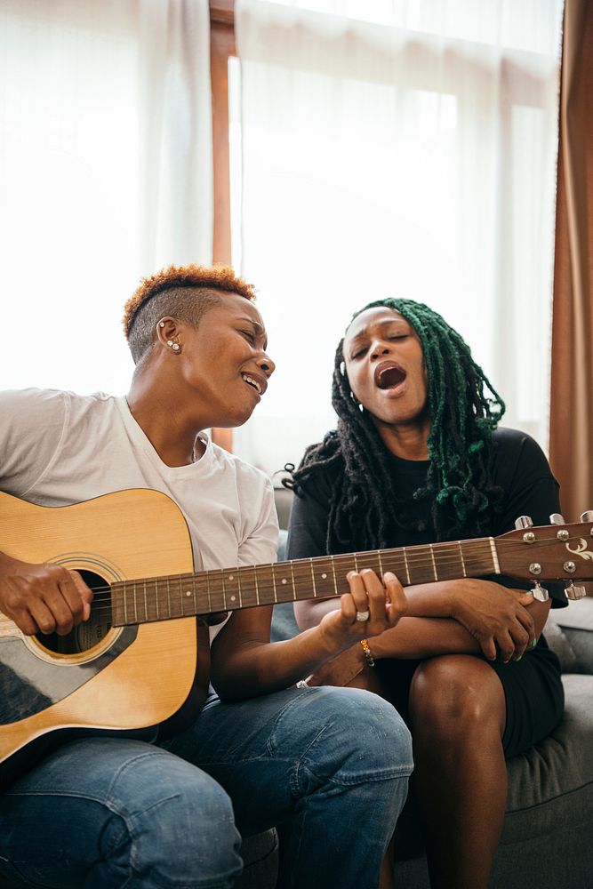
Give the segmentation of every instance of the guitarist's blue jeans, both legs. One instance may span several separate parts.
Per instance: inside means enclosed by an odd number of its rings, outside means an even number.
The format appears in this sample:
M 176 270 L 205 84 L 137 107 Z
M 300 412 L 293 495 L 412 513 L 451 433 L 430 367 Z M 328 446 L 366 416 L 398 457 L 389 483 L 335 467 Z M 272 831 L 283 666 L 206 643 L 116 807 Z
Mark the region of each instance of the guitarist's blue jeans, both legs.
M 214 698 L 164 746 L 72 741 L 0 797 L 0 874 L 74 889 L 227 889 L 241 836 L 291 822 L 279 886 L 375 889 L 410 735 L 355 689 Z

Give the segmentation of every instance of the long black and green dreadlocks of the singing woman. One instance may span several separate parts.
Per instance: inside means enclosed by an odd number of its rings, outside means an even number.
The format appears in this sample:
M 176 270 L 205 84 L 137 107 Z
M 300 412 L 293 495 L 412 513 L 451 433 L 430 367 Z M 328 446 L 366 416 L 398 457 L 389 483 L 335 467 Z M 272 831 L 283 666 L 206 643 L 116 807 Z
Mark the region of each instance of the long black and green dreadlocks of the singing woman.
M 488 508 L 496 509 L 501 489 L 492 482 L 492 433 L 505 407 L 467 343 L 428 306 L 413 300 L 376 300 L 361 308 L 397 310 L 421 340 L 428 377 L 430 432 L 426 485 L 414 500 L 427 500 L 437 540 L 481 536 Z M 406 504 L 393 490 L 389 454 L 366 411 L 353 398 L 344 367 L 342 339 L 336 350 L 332 404 L 338 425 L 308 448 L 301 466 L 285 481 L 299 488 L 319 469 L 343 462 L 341 485 L 333 491 L 328 522 L 329 553 L 388 547 L 393 525 L 413 528 Z M 488 390 L 489 395 L 485 394 Z M 389 504 L 393 509 L 386 509 Z M 416 530 L 421 530 L 416 525 Z

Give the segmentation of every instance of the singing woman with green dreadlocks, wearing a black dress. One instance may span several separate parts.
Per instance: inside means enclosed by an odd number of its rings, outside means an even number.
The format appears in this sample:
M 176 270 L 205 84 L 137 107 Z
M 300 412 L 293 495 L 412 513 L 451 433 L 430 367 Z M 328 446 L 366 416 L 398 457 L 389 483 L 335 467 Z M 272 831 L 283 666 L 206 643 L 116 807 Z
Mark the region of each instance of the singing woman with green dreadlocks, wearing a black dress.
M 333 406 L 337 429 L 289 482 L 292 559 L 498 535 L 518 516 L 548 524 L 559 509 L 539 446 L 497 428 L 501 398 L 459 333 L 421 303 L 380 300 L 354 316 L 336 353 Z M 381 584 L 362 574 L 367 589 Z M 498 575 L 408 586 L 397 628 L 309 677 L 373 687 L 409 723 L 433 889 L 486 889 L 505 757 L 562 715 L 558 661 L 541 636 L 550 601 L 520 586 Z M 301 602 L 297 621 L 315 626 L 335 607 Z

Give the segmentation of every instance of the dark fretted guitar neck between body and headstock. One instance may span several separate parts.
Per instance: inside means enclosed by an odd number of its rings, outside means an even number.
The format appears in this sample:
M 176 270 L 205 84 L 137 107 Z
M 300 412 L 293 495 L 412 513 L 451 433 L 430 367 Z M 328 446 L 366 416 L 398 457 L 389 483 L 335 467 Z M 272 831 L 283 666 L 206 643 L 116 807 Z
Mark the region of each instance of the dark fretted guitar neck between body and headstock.
M 112 621 L 121 627 L 340 596 L 346 574 L 364 568 L 380 577 L 391 571 L 404 586 L 501 573 L 496 541 L 487 537 L 173 574 L 111 584 Z

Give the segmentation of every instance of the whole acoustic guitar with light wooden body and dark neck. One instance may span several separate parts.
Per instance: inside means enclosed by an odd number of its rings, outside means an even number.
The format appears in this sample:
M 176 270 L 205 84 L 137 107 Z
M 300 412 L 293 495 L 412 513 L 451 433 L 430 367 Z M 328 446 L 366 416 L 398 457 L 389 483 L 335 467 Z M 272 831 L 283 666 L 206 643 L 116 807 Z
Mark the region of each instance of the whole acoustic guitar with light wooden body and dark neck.
M 393 571 L 405 586 L 493 574 L 565 579 L 567 595 L 580 597 L 573 580 L 593 576 L 592 534 L 593 521 L 562 520 L 498 538 L 195 573 L 185 519 L 163 493 L 53 508 L 0 493 L 0 549 L 76 569 L 94 591 L 90 620 L 65 637 L 27 637 L 0 613 L 0 789 L 65 737 L 154 736 L 194 718 L 209 668 L 208 629 L 196 616 L 339 596 L 346 573 L 363 568 Z M 545 595 L 539 583 L 536 595 Z

